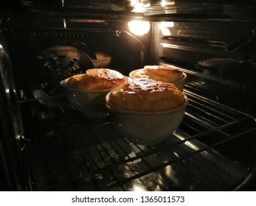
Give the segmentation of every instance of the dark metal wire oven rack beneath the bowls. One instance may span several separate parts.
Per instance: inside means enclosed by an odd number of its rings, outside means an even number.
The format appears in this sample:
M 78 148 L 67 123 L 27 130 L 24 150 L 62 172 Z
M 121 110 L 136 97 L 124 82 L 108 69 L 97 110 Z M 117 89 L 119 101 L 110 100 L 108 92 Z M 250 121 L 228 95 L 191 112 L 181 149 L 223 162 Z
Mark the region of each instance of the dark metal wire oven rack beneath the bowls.
M 246 147 L 255 145 L 255 119 L 189 90 L 184 93 L 189 104 L 179 129 L 154 146 L 131 143 L 108 118 L 91 121 L 74 108 L 48 107 L 49 116 L 60 121 L 52 126 L 38 121 L 38 137 L 24 149 L 30 190 L 234 190 L 256 160 L 254 146 Z

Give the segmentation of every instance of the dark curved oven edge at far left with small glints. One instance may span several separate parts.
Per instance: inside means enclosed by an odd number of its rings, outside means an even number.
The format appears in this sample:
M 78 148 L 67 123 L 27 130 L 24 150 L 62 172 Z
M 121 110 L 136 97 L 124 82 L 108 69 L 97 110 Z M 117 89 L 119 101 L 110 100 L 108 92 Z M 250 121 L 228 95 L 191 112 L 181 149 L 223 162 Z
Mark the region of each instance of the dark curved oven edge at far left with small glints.
M 10 57 L 0 41 L 0 190 L 24 191 L 23 127 Z

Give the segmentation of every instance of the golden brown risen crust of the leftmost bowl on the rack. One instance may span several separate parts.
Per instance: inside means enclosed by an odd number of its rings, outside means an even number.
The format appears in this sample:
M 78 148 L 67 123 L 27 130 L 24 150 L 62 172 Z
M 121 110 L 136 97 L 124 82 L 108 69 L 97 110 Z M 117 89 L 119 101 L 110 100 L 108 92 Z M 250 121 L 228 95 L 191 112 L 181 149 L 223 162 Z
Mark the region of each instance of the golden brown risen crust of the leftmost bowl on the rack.
M 79 90 L 105 90 L 125 83 L 125 77 L 109 68 L 91 68 L 86 74 L 77 74 L 66 82 L 71 88 Z

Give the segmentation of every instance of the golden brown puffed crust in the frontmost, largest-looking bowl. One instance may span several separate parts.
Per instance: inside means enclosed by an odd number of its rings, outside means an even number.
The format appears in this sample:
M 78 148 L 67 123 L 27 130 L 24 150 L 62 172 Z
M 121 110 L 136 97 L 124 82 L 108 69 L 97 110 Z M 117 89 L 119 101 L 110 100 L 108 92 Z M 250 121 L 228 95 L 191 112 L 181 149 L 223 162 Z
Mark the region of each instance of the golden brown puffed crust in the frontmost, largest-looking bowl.
M 138 78 L 111 92 L 108 100 L 125 110 L 160 111 L 179 107 L 185 97 L 173 84 Z

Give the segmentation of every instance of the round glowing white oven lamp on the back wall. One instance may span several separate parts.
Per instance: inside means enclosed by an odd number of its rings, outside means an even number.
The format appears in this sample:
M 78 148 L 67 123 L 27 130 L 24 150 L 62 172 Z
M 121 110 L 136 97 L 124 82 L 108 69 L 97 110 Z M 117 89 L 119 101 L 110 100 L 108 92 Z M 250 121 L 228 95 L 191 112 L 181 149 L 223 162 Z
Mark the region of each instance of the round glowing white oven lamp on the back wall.
M 128 28 L 134 35 L 145 35 L 151 29 L 149 21 L 129 21 Z

